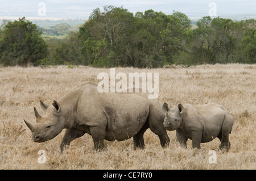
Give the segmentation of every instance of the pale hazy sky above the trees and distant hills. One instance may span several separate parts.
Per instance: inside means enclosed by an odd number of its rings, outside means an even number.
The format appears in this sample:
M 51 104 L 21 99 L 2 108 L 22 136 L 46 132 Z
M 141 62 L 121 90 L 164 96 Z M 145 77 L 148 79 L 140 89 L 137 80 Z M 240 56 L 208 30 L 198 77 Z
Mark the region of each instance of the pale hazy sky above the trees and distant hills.
M 210 4 L 211 3 L 211 4 Z M 213 3 L 213 4 L 212 4 Z M 202 17 L 215 12 L 217 16 L 256 14 L 255 0 L 0 0 L 0 17 L 35 17 L 35 18 L 78 18 L 88 19 L 93 9 L 105 5 L 123 6 L 130 12 L 152 9 L 172 14 L 181 11 L 189 17 Z M 209 7 L 210 5 L 210 7 Z M 213 7 L 212 5 L 216 6 Z M 212 8 L 215 8 L 212 11 Z

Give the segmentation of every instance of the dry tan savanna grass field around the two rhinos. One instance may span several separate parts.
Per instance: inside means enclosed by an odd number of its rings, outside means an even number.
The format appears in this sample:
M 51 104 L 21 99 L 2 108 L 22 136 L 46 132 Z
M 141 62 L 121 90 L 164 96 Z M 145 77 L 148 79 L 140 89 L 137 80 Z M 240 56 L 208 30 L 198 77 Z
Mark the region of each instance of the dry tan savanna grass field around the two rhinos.
M 72 67 L 71 67 L 72 68 Z M 176 107 L 178 103 L 222 104 L 234 117 L 229 153 L 217 150 L 218 138 L 188 149 L 177 142 L 175 131 L 168 132 L 171 142 L 162 149 L 159 138 L 148 129 L 146 148 L 133 149 L 133 139 L 106 141 L 105 150 L 93 149 L 92 137 L 77 138 L 60 155 L 64 131 L 43 143 L 32 141 L 23 119 L 35 123 L 33 107 L 39 100 L 51 104 L 83 81 L 100 82 L 98 73 L 110 69 L 79 66 L 51 68 L 0 68 L 0 169 L 256 169 L 256 65 L 200 65 L 164 69 L 116 68 L 124 72 L 158 72 L 159 101 Z M 116 81 L 117 82 L 117 81 Z M 122 106 L 122 103 L 120 103 Z M 97 114 L 97 112 L 96 112 Z M 217 163 L 209 163 L 209 150 L 216 150 Z M 46 151 L 46 163 L 38 163 L 39 150 Z

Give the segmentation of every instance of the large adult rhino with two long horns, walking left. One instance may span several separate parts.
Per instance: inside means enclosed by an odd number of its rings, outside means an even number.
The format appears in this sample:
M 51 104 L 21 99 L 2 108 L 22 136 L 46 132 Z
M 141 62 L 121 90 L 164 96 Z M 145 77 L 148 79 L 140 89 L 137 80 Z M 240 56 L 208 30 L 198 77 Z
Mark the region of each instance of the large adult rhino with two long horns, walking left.
M 99 93 L 97 86 L 84 82 L 65 95 L 59 102 L 47 105 L 40 116 L 34 108 L 36 124 L 25 123 L 35 142 L 44 142 L 66 129 L 60 144 L 65 145 L 88 133 L 94 149 L 104 148 L 104 140 L 122 141 L 133 137 L 134 148 L 144 148 L 143 134 L 150 128 L 158 135 L 160 144 L 168 146 L 170 138 L 163 127 L 164 112 L 158 100 L 148 99 L 144 93 Z

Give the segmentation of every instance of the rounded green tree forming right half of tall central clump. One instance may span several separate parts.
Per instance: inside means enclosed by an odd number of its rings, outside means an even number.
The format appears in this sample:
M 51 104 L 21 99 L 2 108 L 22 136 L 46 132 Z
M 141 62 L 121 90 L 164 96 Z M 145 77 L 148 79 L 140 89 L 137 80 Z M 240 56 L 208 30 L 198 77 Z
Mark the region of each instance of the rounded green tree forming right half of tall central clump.
M 174 11 L 172 15 L 147 10 L 135 14 L 133 34 L 135 52 L 143 67 L 155 68 L 175 63 L 175 56 L 188 50 L 191 36 L 190 20 L 185 14 Z

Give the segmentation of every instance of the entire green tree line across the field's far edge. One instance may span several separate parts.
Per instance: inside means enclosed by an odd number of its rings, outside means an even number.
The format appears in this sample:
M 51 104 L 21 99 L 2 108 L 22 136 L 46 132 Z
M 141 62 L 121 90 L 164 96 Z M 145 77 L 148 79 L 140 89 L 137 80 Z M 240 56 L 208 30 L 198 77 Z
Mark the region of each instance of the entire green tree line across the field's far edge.
M 35 24 L 21 18 L 0 30 L 0 64 L 5 66 L 92 65 L 161 68 L 170 64 L 256 63 L 256 20 L 204 16 L 192 28 L 188 16 L 123 7 L 93 10 L 79 31 L 64 40 L 44 40 Z

